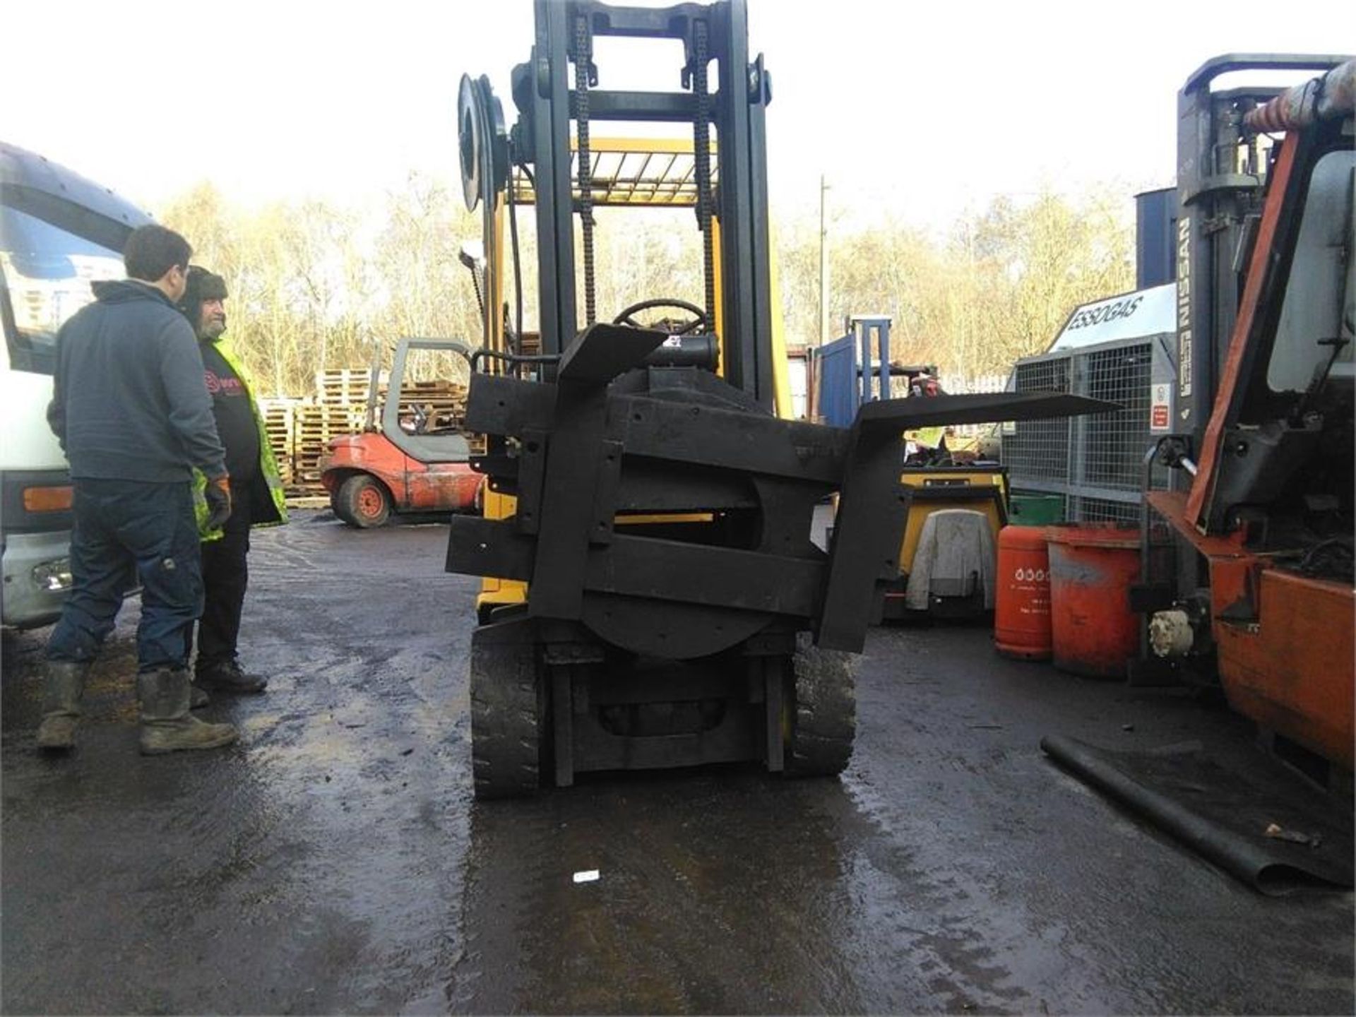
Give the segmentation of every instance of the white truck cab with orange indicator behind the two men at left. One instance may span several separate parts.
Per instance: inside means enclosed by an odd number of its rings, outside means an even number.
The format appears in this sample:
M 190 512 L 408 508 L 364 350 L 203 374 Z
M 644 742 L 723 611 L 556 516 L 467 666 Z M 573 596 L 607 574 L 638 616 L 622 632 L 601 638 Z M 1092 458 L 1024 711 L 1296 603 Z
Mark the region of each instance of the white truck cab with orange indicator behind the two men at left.
M 0 622 L 57 620 L 71 587 L 71 476 L 52 428 L 61 324 L 121 279 L 127 235 L 151 218 L 42 156 L 0 142 Z

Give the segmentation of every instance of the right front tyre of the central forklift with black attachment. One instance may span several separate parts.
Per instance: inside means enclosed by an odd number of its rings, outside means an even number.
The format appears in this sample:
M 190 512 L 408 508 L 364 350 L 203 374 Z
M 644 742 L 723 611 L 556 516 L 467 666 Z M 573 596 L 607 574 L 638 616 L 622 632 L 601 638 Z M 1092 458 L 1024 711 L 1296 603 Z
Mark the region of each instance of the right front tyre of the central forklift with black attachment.
M 791 664 L 795 685 L 786 773 L 793 777 L 842 773 L 857 735 L 856 658 L 818 650 L 803 636 Z

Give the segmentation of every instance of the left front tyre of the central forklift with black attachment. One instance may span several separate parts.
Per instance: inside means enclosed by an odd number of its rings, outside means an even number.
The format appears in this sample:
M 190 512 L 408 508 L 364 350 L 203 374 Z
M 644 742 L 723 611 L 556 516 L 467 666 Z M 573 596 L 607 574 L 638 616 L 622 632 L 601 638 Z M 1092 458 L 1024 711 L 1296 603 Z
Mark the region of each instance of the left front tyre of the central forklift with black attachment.
M 471 637 L 471 762 L 477 799 L 541 788 L 545 685 L 530 643 Z

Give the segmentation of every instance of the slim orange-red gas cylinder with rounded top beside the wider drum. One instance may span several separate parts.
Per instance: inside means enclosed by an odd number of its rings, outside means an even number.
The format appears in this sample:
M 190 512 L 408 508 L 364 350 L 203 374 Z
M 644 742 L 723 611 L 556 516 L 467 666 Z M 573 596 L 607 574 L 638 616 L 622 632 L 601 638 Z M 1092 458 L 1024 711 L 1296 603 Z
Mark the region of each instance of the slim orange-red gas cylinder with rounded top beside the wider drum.
M 998 532 L 994 648 L 1021 660 L 1050 659 L 1050 553 L 1044 526 Z

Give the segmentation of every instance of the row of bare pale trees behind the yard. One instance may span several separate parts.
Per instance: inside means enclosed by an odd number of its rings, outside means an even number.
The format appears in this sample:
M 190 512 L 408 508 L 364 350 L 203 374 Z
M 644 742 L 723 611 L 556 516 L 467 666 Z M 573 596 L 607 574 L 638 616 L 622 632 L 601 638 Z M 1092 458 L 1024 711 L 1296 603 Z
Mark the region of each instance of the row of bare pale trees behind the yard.
M 1044 348 L 1077 304 L 1130 289 L 1134 239 L 1119 214 L 1127 207 L 1105 191 L 1069 198 L 1047 188 L 1024 203 L 999 197 L 941 240 L 890 216 L 857 228 L 835 221 L 830 320 L 885 313 L 894 359 L 965 377 L 1006 373 Z M 522 317 L 533 331 L 533 214 L 518 212 Z M 195 260 L 226 278 L 229 335 L 262 392 L 309 393 L 316 372 L 366 367 L 403 335 L 480 336 L 472 274 L 458 258 L 462 241 L 480 235 L 479 213 L 427 176 L 411 175 L 376 216 L 316 201 L 241 210 L 199 184 L 163 218 L 190 239 Z M 785 220 L 774 232 L 788 340 L 814 343 L 818 221 Z M 702 304 L 690 210 L 599 210 L 597 245 L 601 319 L 654 297 Z M 506 237 L 511 264 L 507 250 Z M 515 323 L 511 267 L 506 278 L 502 298 Z M 464 377 L 466 366 L 458 358 L 427 370 Z

